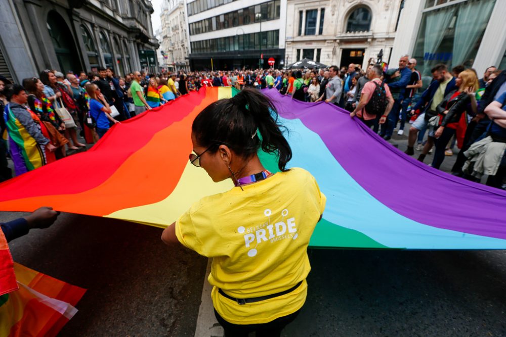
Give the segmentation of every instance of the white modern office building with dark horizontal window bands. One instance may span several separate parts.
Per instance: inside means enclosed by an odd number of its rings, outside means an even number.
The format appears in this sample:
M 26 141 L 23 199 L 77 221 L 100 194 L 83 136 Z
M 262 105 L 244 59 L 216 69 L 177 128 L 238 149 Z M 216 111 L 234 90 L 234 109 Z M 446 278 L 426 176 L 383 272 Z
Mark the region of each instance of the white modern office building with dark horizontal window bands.
M 268 68 L 270 58 L 283 66 L 286 1 L 188 1 L 190 67 Z

